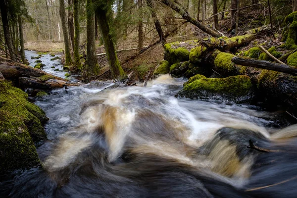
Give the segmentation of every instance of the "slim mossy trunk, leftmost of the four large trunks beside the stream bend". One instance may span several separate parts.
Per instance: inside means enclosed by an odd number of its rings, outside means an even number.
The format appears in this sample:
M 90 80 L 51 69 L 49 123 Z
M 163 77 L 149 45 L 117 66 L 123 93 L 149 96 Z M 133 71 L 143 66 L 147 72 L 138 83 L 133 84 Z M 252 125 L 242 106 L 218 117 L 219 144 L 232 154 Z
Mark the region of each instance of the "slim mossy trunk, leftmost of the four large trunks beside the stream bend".
M 62 31 L 63 31 L 63 38 L 64 38 L 64 47 L 65 47 L 65 64 L 67 66 L 72 64 L 71 55 L 70 55 L 70 46 L 68 40 L 68 31 L 67 31 L 67 23 L 66 23 L 66 14 L 65 14 L 65 2 L 64 0 L 60 1 L 60 18 L 62 21 Z M 58 23 L 59 27 L 59 23 Z

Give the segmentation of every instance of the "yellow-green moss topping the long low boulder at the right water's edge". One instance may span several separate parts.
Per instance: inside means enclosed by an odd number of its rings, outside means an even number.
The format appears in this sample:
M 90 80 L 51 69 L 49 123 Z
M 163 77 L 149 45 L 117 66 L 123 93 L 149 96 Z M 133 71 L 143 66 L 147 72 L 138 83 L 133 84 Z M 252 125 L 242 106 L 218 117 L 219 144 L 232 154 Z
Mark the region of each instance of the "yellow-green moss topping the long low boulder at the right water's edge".
M 252 84 L 248 76 L 230 76 L 227 78 L 206 78 L 196 75 L 190 78 L 190 83 L 184 87 L 184 91 L 197 92 L 206 90 L 215 93 L 231 94 L 233 96 L 247 95 Z

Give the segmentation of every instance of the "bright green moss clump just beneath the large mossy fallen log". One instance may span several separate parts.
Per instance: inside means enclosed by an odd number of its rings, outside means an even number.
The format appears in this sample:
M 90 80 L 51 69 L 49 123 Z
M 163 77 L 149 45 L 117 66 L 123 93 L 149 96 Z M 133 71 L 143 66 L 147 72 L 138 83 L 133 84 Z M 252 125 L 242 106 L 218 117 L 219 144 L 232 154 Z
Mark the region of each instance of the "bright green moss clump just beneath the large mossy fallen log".
M 234 57 L 233 54 L 216 51 L 213 55 L 215 56 L 214 65 L 216 67 L 221 67 L 228 71 L 236 69 L 235 64 L 232 62 L 232 58 Z

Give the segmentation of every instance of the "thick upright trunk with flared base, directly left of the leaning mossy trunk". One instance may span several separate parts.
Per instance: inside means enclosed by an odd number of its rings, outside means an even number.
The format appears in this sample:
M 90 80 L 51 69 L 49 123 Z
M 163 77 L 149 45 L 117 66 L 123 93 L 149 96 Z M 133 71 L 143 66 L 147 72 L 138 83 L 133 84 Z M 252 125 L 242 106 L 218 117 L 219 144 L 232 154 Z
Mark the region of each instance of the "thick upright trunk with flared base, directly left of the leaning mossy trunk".
M 99 66 L 96 57 L 95 46 L 95 13 L 92 0 L 87 0 L 87 59 L 86 66 L 88 72 L 98 75 Z

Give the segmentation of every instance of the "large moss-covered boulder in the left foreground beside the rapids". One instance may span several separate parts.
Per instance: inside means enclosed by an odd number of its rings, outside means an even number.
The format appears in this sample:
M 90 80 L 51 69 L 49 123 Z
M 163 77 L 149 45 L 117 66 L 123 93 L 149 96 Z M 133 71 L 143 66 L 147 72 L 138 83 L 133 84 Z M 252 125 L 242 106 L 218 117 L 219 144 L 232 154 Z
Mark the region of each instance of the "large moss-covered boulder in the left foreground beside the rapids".
M 42 126 L 48 118 L 28 95 L 0 81 L 0 173 L 40 165 L 34 142 L 47 139 Z

